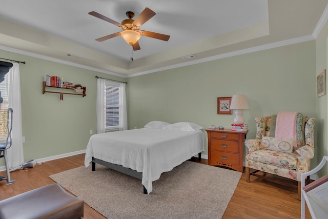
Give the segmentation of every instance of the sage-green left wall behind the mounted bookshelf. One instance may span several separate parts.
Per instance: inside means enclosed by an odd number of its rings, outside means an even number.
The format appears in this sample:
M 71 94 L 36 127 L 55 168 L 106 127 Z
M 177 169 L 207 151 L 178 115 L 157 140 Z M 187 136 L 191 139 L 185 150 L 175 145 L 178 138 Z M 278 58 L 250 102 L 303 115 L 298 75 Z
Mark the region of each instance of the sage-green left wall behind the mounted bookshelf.
M 0 50 L 0 57 L 26 62 L 25 65 L 19 64 L 24 160 L 85 150 L 91 136 L 90 129 L 93 133 L 97 131 L 95 75 L 126 81 L 126 78 L 4 50 Z M 64 94 L 64 101 L 61 101 L 59 94 L 43 94 L 45 74 L 62 76 L 66 81 L 86 86 L 87 96 Z M 59 88 L 47 90 L 66 91 Z M 0 163 L 2 165 L 4 163 Z

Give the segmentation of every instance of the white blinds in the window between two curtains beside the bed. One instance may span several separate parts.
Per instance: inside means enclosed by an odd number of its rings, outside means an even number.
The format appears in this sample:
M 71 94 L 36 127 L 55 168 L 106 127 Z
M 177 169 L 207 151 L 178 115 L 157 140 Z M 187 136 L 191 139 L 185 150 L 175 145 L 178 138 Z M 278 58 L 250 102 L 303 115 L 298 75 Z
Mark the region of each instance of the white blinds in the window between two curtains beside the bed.
M 119 85 L 105 83 L 105 129 L 116 129 L 119 125 Z

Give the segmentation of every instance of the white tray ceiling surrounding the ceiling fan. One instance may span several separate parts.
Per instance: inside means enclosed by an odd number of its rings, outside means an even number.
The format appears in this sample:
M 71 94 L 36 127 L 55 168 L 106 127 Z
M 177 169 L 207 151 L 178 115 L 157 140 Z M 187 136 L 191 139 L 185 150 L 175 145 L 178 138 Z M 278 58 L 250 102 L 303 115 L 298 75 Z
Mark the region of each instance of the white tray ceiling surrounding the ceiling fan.
M 0 0 L 0 45 L 106 73 L 135 75 L 276 42 L 313 39 L 327 4 L 328 0 Z M 141 50 L 134 51 L 130 61 L 131 46 L 120 36 L 95 41 L 121 29 L 90 11 L 120 23 L 127 11 L 136 18 L 146 7 L 156 15 L 140 30 L 170 35 L 168 42 L 141 36 Z M 181 58 L 191 54 L 195 57 Z

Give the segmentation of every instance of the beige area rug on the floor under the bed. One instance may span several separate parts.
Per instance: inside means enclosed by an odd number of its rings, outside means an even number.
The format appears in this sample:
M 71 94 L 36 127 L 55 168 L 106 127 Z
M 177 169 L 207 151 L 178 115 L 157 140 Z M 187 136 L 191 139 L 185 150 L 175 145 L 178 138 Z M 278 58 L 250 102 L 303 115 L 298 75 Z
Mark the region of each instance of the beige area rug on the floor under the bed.
M 150 194 L 141 180 L 98 164 L 50 177 L 107 218 L 221 218 L 241 172 L 186 161 L 162 173 Z

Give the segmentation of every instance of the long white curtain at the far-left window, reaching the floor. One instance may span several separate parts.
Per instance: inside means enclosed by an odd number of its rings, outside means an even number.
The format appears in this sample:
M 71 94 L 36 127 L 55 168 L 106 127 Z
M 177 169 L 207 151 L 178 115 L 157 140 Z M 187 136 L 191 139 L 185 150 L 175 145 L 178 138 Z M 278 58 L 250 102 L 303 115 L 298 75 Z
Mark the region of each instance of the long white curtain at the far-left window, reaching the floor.
M 11 131 L 12 145 L 11 148 L 8 149 L 7 155 L 9 168 L 13 168 L 24 163 L 19 64 L 13 63 L 13 67 L 9 70 L 7 74 L 10 74 L 9 107 L 13 110 Z

